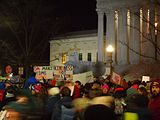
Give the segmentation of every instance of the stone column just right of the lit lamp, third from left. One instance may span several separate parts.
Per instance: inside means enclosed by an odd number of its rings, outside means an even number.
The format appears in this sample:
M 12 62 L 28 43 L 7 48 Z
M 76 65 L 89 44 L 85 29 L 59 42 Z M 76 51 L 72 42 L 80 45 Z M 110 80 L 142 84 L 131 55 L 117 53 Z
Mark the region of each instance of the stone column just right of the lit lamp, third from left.
M 128 63 L 128 42 L 127 42 L 127 9 L 122 8 L 118 14 L 118 64 Z

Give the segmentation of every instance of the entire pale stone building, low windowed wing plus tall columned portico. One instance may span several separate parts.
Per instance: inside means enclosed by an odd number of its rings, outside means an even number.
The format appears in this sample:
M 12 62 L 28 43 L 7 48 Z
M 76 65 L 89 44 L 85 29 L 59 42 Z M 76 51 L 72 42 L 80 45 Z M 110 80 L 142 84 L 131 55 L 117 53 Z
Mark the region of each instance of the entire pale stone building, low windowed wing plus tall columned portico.
M 114 47 L 115 68 L 159 61 L 160 5 L 152 0 L 97 0 L 96 11 L 98 30 L 52 38 L 50 65 L 69 59 L 105 62 L 108 44 Z

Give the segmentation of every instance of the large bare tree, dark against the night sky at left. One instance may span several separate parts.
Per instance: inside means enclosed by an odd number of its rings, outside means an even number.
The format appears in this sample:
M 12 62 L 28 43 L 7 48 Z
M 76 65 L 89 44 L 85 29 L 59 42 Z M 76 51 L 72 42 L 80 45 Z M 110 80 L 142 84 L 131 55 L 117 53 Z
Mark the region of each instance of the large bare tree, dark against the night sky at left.
M 1 64 L 25 67 L 49 63 L 49 37 L 64 28 L 52 0 L 1 0 Z M 48 58 L 47 58 L 48 57 Z

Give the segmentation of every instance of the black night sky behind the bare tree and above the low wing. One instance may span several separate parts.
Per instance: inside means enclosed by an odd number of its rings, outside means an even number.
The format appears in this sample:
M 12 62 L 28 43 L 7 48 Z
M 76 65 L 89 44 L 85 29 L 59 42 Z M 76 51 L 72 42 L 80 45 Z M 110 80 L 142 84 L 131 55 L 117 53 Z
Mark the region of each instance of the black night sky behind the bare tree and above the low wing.
M 3 18 L 0 42 L 5 43 L 5 46 L 0 43 L 0 48 L 5 48 L 0 49 L 3 56 L 0 64 L 49 63 L 52 36 L 97 29 L 96 0 L 1 0 L 0 3 Z

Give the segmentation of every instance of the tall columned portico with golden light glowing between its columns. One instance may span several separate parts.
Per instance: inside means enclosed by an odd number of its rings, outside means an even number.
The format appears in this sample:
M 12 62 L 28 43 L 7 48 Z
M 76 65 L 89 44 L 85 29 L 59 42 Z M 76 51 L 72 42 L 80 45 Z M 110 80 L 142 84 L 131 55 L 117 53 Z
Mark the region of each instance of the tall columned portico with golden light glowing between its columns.
M 111 44 L 114 65 L 150 63 L 159 56 L 160 5 L 156 0 L 97 0 L 98 61 Z M 158 26 L 155 26 L 158 23 Z

